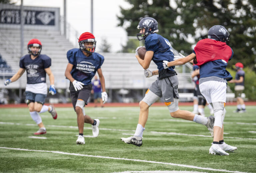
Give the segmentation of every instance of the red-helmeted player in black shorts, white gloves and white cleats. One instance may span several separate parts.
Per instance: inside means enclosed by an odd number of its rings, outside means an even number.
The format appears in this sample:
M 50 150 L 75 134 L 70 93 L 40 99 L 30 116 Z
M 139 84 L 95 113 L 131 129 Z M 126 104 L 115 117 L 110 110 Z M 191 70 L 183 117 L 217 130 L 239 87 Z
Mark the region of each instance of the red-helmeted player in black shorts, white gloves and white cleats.
M 99 53 L 95 53 L 96 41 L 95 37 L 88 32 L 81 34 L 78 39 L 80 48 L 73 48 L 67 52 L 68 65 L 65 76 L 70 80 L 70 96 L 77 114 L 77 126 L 79 135 L 76 140 L 77 144 L 85 144 L 83 131 L 84 123 L 92 125 L 92 134 L 97 137 L 99 134 L 99 119 L 91 119 L 85 114 L 84 106 L 90 97 L 92 90 L 92 78 L 97 72 L 102 87 L 102 101 L 107 102 L 108 95 L 105 90 L 105 79 L 101 71 L 101 65 L 104 57 Z

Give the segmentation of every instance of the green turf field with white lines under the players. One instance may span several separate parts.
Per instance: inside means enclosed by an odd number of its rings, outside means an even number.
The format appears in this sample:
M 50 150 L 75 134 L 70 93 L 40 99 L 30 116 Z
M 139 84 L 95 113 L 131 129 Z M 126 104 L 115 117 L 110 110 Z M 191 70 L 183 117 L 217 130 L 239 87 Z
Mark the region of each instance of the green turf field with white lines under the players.
M 180 107 L 192 111 L 192 107 Z M 47 134 L 31 138 L 38 130 L 27 108 L 0 109 L 0 172 L 17 173 L 113 173 L 169 171 L 256 173 L 256 108 L 232 113 L 227 106 L 224 140 L 237 146 L 229 156 L 211 155 L 212 137 L 205 126 L 174 119 L 166 107 L 151 107 L 143 145 L 121 142 L 134 134 L 138 107 L 86 108 L 100 119 L 100 134 L 92 138 L 85 124 L 84 145 L 77 145 L 78 128 L 72 108 L 56 108 L 58 119 L 41 114 Z M 206 108 L 206 115 L 209 110 Z M 25 150 L 24 150 L 25 149 Z

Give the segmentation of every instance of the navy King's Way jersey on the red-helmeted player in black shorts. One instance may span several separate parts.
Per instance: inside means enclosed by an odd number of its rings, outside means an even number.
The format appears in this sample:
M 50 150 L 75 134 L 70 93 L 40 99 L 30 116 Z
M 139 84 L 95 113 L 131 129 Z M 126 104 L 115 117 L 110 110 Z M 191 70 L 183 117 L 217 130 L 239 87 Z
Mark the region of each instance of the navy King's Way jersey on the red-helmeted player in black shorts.
M 85 85 L 92 83 L 93 76 L 104 62 L 104 57 L 101 54 L 92 53 L 87 57 L 78 48 L 70 49 L 67 52 L 67 58 L 68 62 L 73 65 L 70 72 L 72 77 Z

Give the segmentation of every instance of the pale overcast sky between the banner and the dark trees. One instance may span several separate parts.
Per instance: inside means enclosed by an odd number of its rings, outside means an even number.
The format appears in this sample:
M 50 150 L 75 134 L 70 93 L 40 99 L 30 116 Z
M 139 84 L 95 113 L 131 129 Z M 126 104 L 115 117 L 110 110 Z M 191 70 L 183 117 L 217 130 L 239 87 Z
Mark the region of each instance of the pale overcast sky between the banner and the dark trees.
M 16 5 L 20 5 L 20 0 Z M 64 0 L 23 0 L 24 6 L 59 7 L 60 15 L 64 14 Z M 120 15 L 120 8 L 129 8 L 124 0 L 93 0 L 93 34 L 96 38 L 96 51 L 106 38 L 111 44 L 111 51 L 121 49 L 121 44 L 127 41 L 127 35 L 123 28 L 117 27 L 119 23 L 117 15 Z M 79 35 L 84 32 L 91 32 L 91 0 L 66 0 L 67 22 L 78 31 Z

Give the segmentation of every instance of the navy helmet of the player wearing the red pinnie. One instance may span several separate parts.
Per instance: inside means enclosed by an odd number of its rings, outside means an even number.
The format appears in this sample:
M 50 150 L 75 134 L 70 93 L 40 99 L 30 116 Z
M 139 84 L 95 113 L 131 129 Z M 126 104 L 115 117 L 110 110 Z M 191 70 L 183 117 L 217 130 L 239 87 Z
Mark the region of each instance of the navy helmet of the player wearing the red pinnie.
M 227 43 L 229 41 L 229 32 L 221 25 L 214 25 L 208 31 L 208 39 Z

